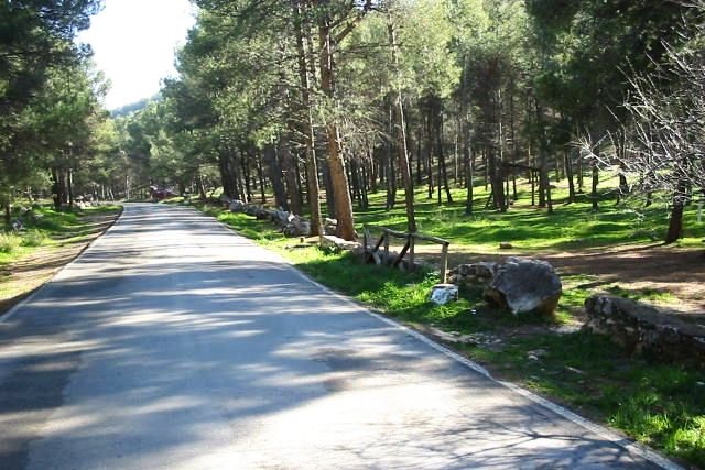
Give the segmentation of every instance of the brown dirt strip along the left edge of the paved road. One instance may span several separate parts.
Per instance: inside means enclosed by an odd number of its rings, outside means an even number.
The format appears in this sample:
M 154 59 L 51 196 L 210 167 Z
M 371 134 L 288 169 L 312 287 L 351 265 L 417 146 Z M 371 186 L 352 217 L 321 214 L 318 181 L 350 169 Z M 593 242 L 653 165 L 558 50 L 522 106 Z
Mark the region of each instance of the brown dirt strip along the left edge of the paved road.
M 42 247 L 29 255 L 0 267 L 0 315 L 30 295 L 100 237 L 119 214 L 86 215 L 76 232 L 57 245 Z

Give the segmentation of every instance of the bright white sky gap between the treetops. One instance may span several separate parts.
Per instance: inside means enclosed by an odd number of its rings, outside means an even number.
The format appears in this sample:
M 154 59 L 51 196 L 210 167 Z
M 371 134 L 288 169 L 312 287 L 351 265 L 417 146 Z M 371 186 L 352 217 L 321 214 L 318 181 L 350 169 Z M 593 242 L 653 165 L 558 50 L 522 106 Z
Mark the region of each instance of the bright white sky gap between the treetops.
M 174 53 L 195 22 L 188 0 L 105 0 L 90 29 L 78 35 L 111 87 L 108 109 L 149 98 L 161 80 L 175 77 Z

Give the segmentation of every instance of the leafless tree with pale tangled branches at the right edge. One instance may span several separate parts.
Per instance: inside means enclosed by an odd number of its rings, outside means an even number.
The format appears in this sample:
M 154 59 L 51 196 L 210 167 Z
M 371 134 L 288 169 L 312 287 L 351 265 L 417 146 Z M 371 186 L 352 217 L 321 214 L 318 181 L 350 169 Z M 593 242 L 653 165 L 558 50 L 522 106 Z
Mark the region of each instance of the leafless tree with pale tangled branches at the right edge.
M 683 4 L 705 13 L 705 0 Z M 629 190 L 646 196 L 648 205 L 658 195 L 669 198 L 666 243 L 681 237 L 683 209 L 693 193 L 705 190 L 705 24 L 684 30 L 695 31 L 688 47 L 665 45 L 668 59 L 655 73 L 629 78 L 623 103 L 629 120 L 622 128 L 596 145 L 581 143 L 600 166 L 634 178 Z

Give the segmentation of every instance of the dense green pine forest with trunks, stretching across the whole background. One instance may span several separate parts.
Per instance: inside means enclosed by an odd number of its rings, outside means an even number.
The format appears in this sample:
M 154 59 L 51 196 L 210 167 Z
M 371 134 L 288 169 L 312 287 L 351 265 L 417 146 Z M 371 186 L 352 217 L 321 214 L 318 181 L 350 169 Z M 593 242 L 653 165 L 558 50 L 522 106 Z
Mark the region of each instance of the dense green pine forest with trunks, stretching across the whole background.
M 306 212 L 314 233 L 334 217 L 352 239 L 369 192 L 404 204 L 414 230 L 421 188 L 438 204 L 465 188 L 471 215 L 485 184 L 487 207 L 506 211 L 522 178 L 551 212 L 555 173 L 567 203 L 586 195 L 599 210 L 606 174 L 621 203 L 664 201 L 673 241 L 703 190 L 702 94 L 688 92 L 703 85 L 701 0 L 193 3 L 180 76 L 113 119 L 89 50 L 72 42 L 99 2 L 0 7 L 6 207 L 47 181 L 58 206 L 74 186 L 221 187 Z

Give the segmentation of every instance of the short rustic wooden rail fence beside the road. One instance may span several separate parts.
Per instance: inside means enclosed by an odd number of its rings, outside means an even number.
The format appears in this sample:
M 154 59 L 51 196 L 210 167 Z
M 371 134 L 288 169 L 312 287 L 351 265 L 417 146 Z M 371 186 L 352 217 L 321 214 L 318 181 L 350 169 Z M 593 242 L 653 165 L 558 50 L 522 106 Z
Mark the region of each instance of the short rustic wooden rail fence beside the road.
M 370 229 L 381 231 L 381 236 L 373 245 L 370 244 L 373 240 Z M 391 238 L 405 240 L 401 252 L 393 256 L 393 259 L 389 251 L 389 241 Z M 403 265 L 402 262 L 404 256 L 409 255 L 406 264 L 409 270 L 413 271 L 415 267 L 415 245 L 419 240 L 437 243 L 442 247 L 440 274 L 442 282 L 445 284 L 448 272 L 448 245 L 451 242 L 442 238 L 424 236 L 421 233 L 400 232 L 386 227 L 365 226 L 362 234 L 362 259 L 365 262 L 372 260 L 376 264 L 391 264 L 393 267 L 400 267 Z M 380 251 L 382 249 L 383 251 Z

